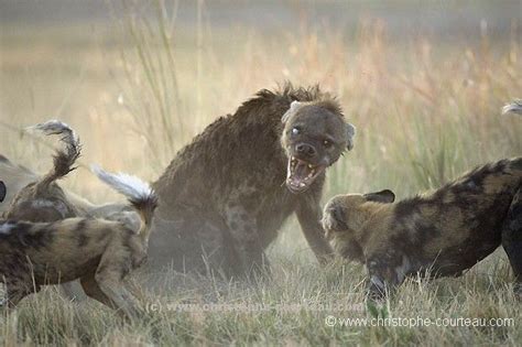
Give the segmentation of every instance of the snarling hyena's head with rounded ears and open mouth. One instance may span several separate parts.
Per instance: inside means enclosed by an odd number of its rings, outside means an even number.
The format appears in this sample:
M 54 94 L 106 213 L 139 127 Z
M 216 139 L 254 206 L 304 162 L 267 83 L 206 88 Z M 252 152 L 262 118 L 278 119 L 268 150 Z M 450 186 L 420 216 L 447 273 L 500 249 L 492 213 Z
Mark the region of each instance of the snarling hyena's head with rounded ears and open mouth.
M 308 189 L 342 152 L 354 148 L 356 129 L 345 121 L 334 100 L 293 101 L 282 121 L 281 141 L 289 159 L 286 186 L 292 193 Z

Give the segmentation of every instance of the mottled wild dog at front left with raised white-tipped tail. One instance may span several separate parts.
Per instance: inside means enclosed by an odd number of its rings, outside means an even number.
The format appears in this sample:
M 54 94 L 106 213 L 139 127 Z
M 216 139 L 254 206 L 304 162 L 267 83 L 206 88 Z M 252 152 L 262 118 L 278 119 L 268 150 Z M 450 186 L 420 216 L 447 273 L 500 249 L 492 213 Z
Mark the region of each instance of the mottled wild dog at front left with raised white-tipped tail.
M 0 274 L 7 291 L 3 303 L 14 306 L 42 285 L 79 279 L 88 296 L 127 316 L 138 314 L 123 279 L 146 259 L 156 195 L 137 177 L 101 169 L 94 172 L 129 198 L 141 218 L 139 230 L 95 218 L 0 220 Z

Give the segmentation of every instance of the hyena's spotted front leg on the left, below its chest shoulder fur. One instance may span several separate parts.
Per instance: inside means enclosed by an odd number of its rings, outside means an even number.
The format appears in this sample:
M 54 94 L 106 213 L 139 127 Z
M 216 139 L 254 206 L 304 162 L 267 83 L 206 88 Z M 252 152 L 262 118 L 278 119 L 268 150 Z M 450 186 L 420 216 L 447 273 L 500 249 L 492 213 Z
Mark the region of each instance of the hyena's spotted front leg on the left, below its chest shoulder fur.
M 231 203 L 226 208 L 226 224 L 241 262 L 242 272 L 248 275 L 252 271 L 268 270 L 270 265 L 264 256 L 254 217 L 239 203 Z

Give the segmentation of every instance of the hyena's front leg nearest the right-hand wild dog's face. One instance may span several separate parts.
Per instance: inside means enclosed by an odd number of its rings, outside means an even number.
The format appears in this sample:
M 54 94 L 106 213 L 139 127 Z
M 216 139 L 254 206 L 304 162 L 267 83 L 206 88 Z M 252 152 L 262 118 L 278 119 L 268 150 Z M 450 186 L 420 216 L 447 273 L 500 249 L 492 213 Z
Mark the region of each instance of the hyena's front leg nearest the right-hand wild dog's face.
M 325 231 L 320 225 L 322 210 L 319 203 L 312 196 L 303 198 L 296 210 L 303 234 L 309 247 L 320 263 L 330 261 L 334 257 L 334 250 L 325 238 Z

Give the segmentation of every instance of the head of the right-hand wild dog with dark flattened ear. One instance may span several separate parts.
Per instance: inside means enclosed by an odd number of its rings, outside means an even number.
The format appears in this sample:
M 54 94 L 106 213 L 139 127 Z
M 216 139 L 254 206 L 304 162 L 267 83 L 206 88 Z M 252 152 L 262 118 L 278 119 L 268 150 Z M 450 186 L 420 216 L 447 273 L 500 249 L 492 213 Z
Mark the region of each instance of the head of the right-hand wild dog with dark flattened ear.
M 374 214 L 378 204 L 391 204 L 394 200 L 395 194 L 389 189 L 335 196 L 326 204 L 323 213 L 326 238 L 330 239 L 336 235 L 342 235 L 344 238 L 356 236 Z

